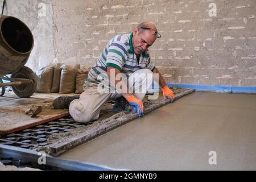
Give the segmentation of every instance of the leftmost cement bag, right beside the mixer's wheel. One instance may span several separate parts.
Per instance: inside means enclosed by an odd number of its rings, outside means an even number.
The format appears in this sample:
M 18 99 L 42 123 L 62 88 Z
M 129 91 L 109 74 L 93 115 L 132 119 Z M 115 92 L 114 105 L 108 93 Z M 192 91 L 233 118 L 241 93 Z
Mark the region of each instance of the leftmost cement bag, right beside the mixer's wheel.
M 51 93 L 53 73 L 54 66 L 52 65 L 44 67 L 36 72 L 36 75 L 38 76 L 36 92 Z

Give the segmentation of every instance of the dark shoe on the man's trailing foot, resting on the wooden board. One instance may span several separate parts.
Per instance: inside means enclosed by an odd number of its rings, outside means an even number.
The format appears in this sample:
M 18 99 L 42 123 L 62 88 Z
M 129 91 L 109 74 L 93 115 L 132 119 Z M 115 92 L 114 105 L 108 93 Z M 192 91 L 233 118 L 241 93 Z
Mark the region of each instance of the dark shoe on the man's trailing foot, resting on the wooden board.
M 60 96 L 55 98 L 52 101 L 52 106 L 54 109 L 68 109 L 69 104 L 76 99 L 79 99 L 80 96 Z

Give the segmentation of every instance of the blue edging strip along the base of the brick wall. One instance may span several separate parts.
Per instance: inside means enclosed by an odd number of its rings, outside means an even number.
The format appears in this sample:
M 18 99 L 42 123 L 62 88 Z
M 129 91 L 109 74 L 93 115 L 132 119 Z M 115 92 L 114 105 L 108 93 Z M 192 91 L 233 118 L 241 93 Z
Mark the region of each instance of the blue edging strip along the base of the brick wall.
M 184 89 L 196 89 L 204 92 L 220 93 L 256 93 L 256 86 L 224 86 L 224 85 L 196 85 L 196 84 L 173 84 L 168 86 L 178 86 Z

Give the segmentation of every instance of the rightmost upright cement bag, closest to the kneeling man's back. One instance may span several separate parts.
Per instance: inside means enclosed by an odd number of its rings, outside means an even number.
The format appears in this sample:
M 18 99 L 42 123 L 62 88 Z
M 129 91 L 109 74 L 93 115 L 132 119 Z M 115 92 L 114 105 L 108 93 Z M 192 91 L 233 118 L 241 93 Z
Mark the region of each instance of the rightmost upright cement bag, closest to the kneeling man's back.
M 76 74 L 76 94 L 81 94 L 82 92 L 84 92 L 84 82 L 88 77 L 88 72 L 89 72 L 90 68 L 88 67 L 82 67 L 81 69 L 79 69 L 77 71 Z

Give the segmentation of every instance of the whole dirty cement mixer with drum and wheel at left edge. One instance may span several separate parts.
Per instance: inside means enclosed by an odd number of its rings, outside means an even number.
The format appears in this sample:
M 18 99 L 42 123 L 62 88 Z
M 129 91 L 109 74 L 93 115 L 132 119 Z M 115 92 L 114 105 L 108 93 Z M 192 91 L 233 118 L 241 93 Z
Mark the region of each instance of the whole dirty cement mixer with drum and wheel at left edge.
M 11 86 L 22 98 L 34 94 L 35 73 L 24 66 L 33 46 L 34 38 L 26 24 L 13 16 L 0 15 L 0 96 L 5 94 L 5 86 Z

